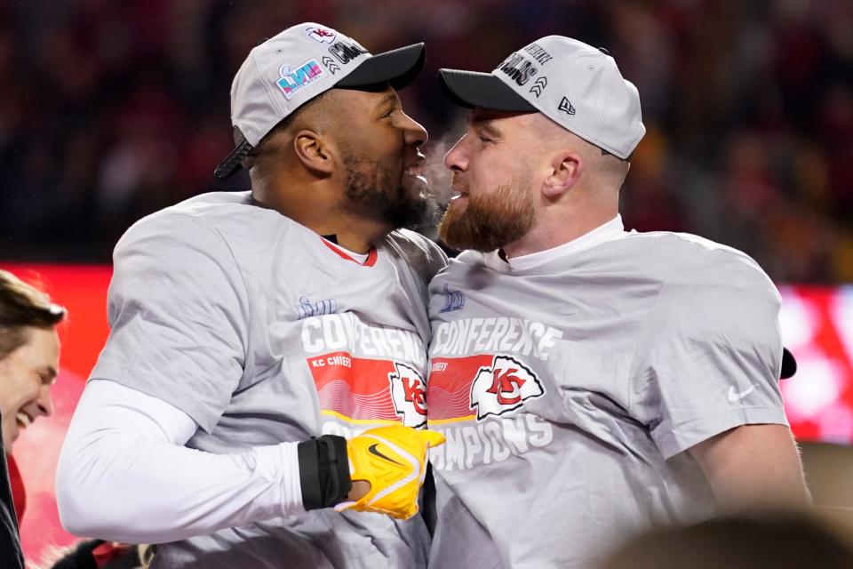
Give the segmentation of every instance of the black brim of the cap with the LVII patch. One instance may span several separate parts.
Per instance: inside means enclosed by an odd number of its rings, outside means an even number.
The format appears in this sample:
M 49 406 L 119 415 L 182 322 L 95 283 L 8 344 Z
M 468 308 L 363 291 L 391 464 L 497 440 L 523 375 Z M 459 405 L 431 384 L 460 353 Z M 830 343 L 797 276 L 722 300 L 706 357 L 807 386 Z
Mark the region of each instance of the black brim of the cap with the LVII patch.
M 377 53 L 364 60 L 335 86 L 341 89 L 358 89 L 387 83 L 395 89 L 403 89 L 420 75 L 425 61 L 426 47 L 423 43 Z

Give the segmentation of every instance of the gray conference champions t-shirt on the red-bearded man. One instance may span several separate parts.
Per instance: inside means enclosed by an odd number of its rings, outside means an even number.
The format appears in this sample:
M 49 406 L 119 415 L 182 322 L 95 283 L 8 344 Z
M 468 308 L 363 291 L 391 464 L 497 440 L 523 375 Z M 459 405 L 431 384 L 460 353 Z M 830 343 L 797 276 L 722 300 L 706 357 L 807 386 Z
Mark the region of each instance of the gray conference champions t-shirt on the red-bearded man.
M 586 567 L 626 531 L 712 513 L 684 451 L 786 424 L 779 306 L 752 259 L 696 236 L 451 260 L 430 284 L 430 566 Z

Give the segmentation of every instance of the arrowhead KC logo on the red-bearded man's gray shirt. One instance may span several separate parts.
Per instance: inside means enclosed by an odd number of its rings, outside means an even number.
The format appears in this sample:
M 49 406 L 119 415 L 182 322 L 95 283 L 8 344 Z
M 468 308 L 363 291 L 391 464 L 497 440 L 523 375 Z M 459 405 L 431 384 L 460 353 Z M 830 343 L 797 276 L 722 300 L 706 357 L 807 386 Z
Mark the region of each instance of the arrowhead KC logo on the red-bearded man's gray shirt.
M 511 356 L 495 356 L 490 367 L 481 367 L 471 384 L 471 408 L 477 419 L 508 413 L 522 401 L 542 397 L 545 389 L 526 365 Z

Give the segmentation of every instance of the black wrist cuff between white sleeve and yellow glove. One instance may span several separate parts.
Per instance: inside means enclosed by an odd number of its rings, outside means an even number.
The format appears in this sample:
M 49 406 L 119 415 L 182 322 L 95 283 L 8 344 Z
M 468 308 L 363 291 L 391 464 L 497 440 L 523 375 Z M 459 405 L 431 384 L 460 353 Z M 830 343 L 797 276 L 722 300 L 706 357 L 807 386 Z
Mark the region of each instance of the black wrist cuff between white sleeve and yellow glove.
M 347 439 L 323 435 L 297 445 L 302 505 L 305 509 L 331 508 L 347 499 L 349 478 Z

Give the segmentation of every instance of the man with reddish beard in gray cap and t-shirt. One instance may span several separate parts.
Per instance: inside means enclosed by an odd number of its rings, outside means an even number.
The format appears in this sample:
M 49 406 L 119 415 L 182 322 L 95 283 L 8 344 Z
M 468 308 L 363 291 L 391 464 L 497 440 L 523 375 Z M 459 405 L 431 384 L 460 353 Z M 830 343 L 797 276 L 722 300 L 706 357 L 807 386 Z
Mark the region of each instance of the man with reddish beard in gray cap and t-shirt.
M 441 79 L 472 110 L 440 227 L 467 251 L 430 284 L 430 565 L 586 567 L 638 526 L 807 503 L 768 276 L 623 228 L 645 128 L 613 58 L 547 36 Z

